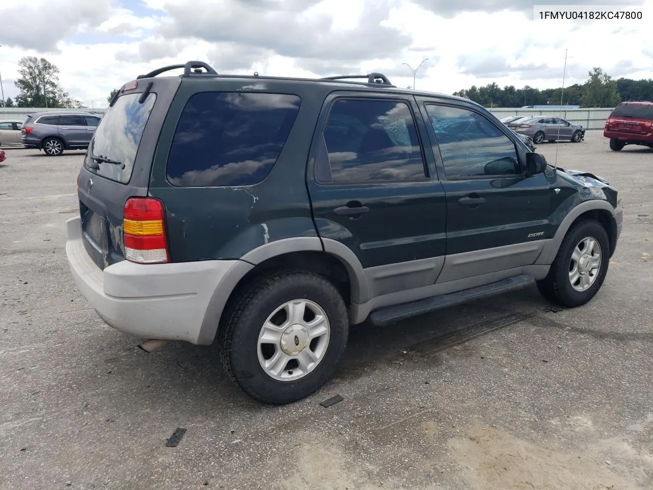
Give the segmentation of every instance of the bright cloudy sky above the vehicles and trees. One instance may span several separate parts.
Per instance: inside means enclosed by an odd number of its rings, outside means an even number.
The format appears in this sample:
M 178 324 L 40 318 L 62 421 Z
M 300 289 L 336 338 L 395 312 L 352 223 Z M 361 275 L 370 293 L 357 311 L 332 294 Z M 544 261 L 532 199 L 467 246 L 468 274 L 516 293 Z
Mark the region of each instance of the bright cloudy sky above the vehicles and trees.
M 628 4 L 643 20 L 534 20 L 534 5 Z M 56 5 L 56 8 L 53 6 Z M 537 88 L 592 67 L 653 77 L 653 0 L 0 0 L 5 96 L 22 56 L 44 56 L 72 97 L 106 106 L 150 69 L 191 59 L 218 73 L 329 76 L 385 73 L 451 93 L 497 82 Z

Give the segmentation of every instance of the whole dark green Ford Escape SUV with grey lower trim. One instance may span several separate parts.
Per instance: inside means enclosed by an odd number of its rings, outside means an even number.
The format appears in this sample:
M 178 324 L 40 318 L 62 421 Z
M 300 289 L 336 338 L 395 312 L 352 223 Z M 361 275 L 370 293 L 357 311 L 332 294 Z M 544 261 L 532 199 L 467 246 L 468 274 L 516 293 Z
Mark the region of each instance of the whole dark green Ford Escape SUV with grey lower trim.
M 533 282 L 585 304 L 623 215 L 607 181 L 547 165 L 468 99 L 199 61 L 120 88 L 78 199 L 67 259 L 99 316 L 148 351 L 217 342 L 231 379 L 272 404 L 332 376 L 350 324 Z

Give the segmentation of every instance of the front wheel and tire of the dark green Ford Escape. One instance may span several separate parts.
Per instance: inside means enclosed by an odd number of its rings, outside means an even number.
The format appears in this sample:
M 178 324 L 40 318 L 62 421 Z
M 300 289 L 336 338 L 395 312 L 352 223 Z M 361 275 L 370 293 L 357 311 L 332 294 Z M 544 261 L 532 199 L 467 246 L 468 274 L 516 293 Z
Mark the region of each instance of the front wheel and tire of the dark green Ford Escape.
M 601 289 L 609 260 L 605 228 L 594 220 L 581 221 L 567 232 L 549 274 L 537 282 L 537 289 L 560 306 L 581 306 Z

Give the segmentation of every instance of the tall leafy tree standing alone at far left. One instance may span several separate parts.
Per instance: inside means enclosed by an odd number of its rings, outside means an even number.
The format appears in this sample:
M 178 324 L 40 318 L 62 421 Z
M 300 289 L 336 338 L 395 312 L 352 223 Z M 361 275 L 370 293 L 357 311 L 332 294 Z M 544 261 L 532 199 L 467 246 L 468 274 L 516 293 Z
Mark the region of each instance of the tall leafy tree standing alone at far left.
M 20 90 L 16 97 L 19 107 L 74 107 L 79 101 L 59 85 L 59 69 L 45 58 L 24 56 L 18 61 L 18 80 L 14 85 Z

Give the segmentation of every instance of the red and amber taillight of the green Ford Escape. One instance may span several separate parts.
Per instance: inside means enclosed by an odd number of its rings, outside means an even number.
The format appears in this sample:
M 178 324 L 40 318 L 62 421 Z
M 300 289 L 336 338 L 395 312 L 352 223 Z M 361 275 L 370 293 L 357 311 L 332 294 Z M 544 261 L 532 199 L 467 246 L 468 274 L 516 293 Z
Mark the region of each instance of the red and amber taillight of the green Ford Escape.
M 165 209 L 159 199 L 127 199 L 123 215 L 125 259 L 139 264 L 161 264 L 169 261 L 164 218 Z

